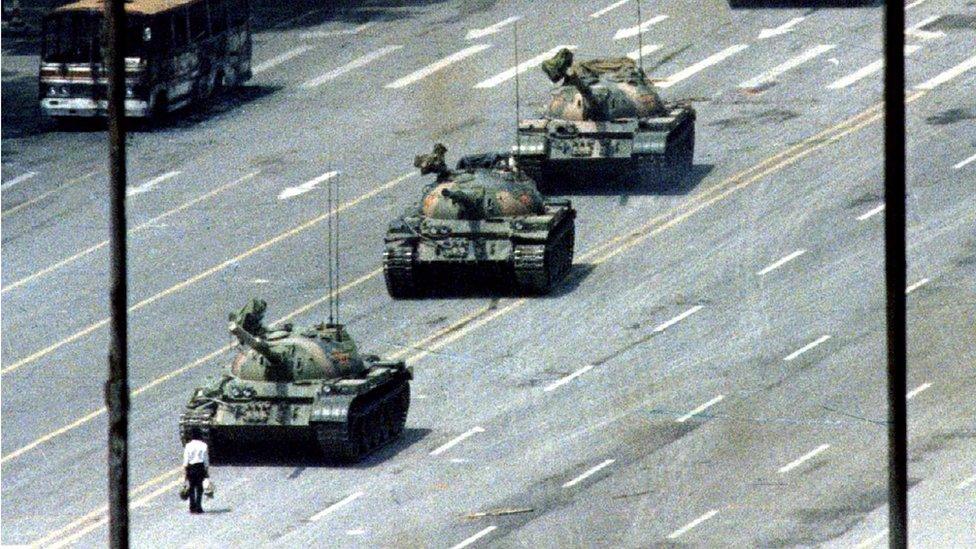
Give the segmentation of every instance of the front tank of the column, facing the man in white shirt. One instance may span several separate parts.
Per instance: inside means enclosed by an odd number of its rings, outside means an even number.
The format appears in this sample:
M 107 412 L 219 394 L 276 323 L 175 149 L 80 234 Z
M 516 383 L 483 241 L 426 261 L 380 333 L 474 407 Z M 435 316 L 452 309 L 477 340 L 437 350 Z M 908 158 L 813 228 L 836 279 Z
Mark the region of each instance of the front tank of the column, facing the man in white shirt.
M 403 432 L 413 376 L 402 361 L 361 355 L 341 324 L 266 327 L 265 309 L 252 300 L 230 315 L 240 352 L 194 389 L 179 421 L 184 444 L 199 427 L 218 459 L 288 441 L 351 462 Z

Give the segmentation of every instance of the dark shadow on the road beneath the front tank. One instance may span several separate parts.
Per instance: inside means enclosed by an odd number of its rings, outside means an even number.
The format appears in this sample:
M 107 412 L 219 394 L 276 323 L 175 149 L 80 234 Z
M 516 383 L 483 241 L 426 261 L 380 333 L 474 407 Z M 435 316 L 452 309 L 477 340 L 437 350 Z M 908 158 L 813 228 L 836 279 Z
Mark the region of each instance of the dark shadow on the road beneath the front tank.
M 357 463 L 343 463 L 325 458 L 314 442 L 276 443 L 266 445 L 242 445 L 222 447 L 220 455 L 211 459 L 221 467 L 295 467 L 292 476 L 297 477 L 307 467 L 338 467 L 343 469 L 368 469 L 394 458 L 400 452 L 417 444 L 431 433 L 430 429 L 406 428 L 400 438 L 369 454 Z

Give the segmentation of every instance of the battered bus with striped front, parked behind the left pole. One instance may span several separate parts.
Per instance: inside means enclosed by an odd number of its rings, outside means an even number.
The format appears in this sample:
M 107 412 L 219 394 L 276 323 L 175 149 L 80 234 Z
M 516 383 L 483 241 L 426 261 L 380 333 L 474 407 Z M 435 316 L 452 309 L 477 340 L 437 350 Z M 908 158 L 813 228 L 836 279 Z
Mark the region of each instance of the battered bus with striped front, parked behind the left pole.
M 104 117 L 104 0 L 43 19 L 38 94 L 58 118 Z M 249 0 L 127 0 L 125 115 L 158 120 L 251 77 Z

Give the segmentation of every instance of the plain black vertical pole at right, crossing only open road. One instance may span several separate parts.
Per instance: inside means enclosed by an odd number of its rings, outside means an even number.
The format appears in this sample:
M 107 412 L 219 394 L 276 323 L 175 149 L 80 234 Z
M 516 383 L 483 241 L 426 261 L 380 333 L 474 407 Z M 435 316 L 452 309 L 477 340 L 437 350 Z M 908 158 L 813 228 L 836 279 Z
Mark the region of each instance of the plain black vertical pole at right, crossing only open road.
M 888 545 L 908 546 L 905 318 L 905 4 L 885 7 L 885 291 L 888 327 Z

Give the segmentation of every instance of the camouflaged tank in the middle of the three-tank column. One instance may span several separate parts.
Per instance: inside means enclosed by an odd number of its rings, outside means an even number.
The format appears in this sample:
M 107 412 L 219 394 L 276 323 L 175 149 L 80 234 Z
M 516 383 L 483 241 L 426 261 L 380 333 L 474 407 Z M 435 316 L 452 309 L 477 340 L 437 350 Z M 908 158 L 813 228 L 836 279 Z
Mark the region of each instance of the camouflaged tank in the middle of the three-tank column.
M 548 293 L 573 264 L 576 210 L 570 201 L 544 198 L 511 168 L 508 154 L 468 156 L 450 170 L 446 152 L 437 144 L 414 161 L 421 174 L 436 179 L 386 233 L 383 274 L 390 295 L 430 295 L 474 274 L 515 293 Z

